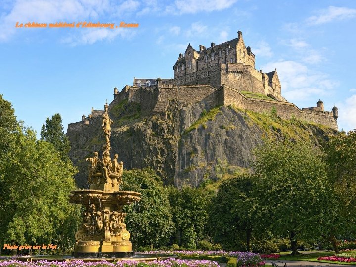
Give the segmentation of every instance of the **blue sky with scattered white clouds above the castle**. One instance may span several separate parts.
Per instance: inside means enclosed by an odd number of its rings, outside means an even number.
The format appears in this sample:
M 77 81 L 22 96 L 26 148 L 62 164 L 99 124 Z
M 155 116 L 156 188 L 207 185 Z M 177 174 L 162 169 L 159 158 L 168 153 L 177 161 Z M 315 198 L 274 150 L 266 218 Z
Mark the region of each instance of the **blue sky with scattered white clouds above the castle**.
M 74 27 L 49 27 L 57 22 Z M 354 0 L 0 0 L 0 94 L 38 137 L 55 113 L 66 132 L 110 103 L 114 87 L 173 78 L 189 43 L 199 50 L 239 30 L 255 68 L 277 68 L 289 102 L 321 99 L 325 110 L 338 107 L 339 130 L 356 128 Z

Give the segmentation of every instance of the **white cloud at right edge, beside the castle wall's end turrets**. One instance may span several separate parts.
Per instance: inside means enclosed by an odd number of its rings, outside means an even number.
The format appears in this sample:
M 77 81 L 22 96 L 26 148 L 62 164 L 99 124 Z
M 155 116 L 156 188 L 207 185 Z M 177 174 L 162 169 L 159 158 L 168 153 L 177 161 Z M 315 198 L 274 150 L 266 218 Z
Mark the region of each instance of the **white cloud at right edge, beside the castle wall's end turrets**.
M 350 96 L 343 103 L 338 105 L 338 125 L 339 129 L 346 131 L 356 129 L 356 94 Z

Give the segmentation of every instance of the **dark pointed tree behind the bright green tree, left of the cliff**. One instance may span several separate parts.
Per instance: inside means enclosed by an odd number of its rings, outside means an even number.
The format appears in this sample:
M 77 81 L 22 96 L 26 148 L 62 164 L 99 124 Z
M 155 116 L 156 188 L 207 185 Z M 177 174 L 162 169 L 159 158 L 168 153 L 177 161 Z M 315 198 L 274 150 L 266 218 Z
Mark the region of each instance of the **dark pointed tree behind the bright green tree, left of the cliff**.
M 41 140 L 47 141 L 54 145 L 59 151 L 63 160 L 69 160 L 70 143 L 68 137 L 63 132 L 62 117 L 59 113 L 47 117 L 46 123 L 41 128 Z

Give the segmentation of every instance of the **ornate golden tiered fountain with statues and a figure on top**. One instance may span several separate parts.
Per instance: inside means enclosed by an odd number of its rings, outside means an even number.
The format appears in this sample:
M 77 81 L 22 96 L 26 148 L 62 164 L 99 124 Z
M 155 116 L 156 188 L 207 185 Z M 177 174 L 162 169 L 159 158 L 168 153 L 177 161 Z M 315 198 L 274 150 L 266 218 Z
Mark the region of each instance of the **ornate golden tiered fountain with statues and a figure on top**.
M 108 115 L 105 103 L 102 128 L 105 135 L 102 158 L 98 152 L 89 162 L 89 189 L 75 190 L 69 195 L 69 202 L 81 204 L 83 223 L 75 234 L 74 257 L 130 257 L 134 256 L 130 233 L 126 230 L 124 205 L 141 200 L 141 194 L 121 191 L 123 162 L 118 155 L 110 157 L 110 135 L 113 121 Z

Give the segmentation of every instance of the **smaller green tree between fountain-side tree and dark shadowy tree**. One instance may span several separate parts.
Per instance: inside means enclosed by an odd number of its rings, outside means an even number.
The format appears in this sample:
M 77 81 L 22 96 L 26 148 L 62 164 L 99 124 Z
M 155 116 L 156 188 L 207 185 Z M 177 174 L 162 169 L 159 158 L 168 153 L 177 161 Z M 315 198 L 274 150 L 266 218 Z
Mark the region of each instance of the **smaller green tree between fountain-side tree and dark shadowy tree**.
M 178 233 L 178 243 L 195 249 L 198 241 L 207 236 L 208 208 L 212 195 L 213 192 L 206 188 L 169 188 L 169 200 Z

